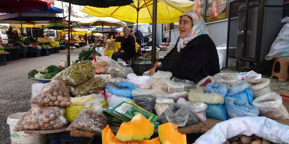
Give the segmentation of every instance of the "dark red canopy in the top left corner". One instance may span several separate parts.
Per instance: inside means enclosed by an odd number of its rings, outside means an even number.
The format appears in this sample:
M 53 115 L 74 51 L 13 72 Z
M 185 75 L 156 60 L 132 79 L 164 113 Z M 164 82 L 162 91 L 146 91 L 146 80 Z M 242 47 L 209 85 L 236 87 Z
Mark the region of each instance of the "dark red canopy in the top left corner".
M 0 12 L 45 11 L 48 10 L 53 3 L 53 0 L 0 0 Z

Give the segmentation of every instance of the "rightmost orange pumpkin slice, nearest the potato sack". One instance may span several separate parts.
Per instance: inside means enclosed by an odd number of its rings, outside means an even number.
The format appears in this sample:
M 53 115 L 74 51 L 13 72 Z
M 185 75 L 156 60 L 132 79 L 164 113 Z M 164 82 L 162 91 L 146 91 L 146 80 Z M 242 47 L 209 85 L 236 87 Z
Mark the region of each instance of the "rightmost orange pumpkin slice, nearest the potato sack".
M 169 141 L 174 144 L 187 144 L 186 134 L 181 134 L 178 132 L 178 125 L 173 123 L 164 123 L 158 126 L 158 133 L 160 142 L 162 144 L 165 141 Z

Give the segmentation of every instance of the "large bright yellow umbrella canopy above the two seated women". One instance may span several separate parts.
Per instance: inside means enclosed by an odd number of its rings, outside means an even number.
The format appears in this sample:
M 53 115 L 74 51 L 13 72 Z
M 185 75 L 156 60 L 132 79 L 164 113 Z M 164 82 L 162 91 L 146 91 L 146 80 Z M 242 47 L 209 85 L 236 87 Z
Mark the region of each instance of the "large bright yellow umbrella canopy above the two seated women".
M 139 5 L 138 5 L 139 2 Z M 137 23 L 153 22 L 153 1 L 136 0 L 126 6 L 114 6 L 109 8 L 96 8 L 92 6 L 80 6 L 80 11 L 91 16 L 114 17 L 122 21 Z M 197 10 L 197 5 L 189 0 L 158 0 L 157 23 L 174 23 L 179 21 L 179 16 L 189 10 Z

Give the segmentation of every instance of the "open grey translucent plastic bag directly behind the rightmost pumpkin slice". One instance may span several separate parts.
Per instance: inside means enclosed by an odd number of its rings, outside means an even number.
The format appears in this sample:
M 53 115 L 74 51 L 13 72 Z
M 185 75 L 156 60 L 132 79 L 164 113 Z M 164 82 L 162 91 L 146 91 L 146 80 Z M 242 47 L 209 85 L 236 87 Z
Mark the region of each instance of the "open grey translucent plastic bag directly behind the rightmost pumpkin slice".
M 181 106 L 174 103 L 162 113 L 159 121 L 160 123 L 171 122 L 179 127 L 199 123 L 197 118 L 192 113 L 190 115 L 190 113 L 188 106 Z M 190 121 L 188 121 L 189 117 Z

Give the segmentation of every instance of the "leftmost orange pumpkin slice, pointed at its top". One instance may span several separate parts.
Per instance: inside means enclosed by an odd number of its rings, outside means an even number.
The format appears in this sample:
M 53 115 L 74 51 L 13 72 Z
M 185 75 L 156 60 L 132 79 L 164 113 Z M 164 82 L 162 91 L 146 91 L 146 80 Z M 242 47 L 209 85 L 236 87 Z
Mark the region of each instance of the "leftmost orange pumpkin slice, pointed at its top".
M 107 125 L 101 132 L 101 138 L 103 144 L 138 144 L 136 142 L 123 142 L 114 136 L 114 134 L 111 132 L 111 129 Z

